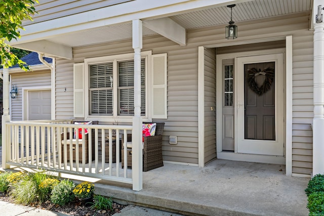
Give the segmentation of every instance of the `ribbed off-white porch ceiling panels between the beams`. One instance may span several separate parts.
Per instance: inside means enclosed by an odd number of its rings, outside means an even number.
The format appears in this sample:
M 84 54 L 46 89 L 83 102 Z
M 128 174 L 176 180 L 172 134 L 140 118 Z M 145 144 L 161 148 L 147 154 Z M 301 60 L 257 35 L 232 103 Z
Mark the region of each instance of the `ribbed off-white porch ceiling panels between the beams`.
M 230 4 L 232 4 L 231 2 Z M 247 21 L 253 19 L 261 19 L 272 16 L 286 15 L 292 13 L 299 13 L 304 11 L 311 11 L 312 0 L 254 0 L 244 1 L 236 4 L 233 8 L 233 20 L 235 23 L 240 21 Z M 226 6 L 205 8 L 203 10 L 190 11 L 187 13 L 176 14 L 169 17 L 172 21 L 177 23 L 184 29 L 192 29 L 199 27 L 207 27 L 213 25 L 227 24 L 230 19 L 230 10 Z M 160 18 L 160 17 L 159 17 Z M 154 20 L 154 18 L 143 18 L 143 21 Z M 50 35 L 37 40 L 43 42 L 50 41 L 51 44 L 58 44 L 62 47 L 72 48 L 79 46 L 86 46 L 91 44 L 99 44 L 101 42 L 116 41 L 121 39 L 132 38 L 132 23 L 124 22 L 117 25 L 102 25 L 100 27 L 91 28 L 91 25 L 87 29 L 81 31 L 73 31 L 73 27 L 68 33 L 59 33 L 56 35 Z M 149 29 L 149 26 L 143 26 L 143 36 L 156 34 L 155 31 Z M 22 48 L 26 50 L 33 50 L 34 43 L 28 42 L 19 45 L 19 41 L 13 44 L 14 47 Z M 51 53 L 48 53 L 51 56 Z M 54 53 L 52 54 L 55 55 Z M 64 56 L 61 56 L 64 58 Z

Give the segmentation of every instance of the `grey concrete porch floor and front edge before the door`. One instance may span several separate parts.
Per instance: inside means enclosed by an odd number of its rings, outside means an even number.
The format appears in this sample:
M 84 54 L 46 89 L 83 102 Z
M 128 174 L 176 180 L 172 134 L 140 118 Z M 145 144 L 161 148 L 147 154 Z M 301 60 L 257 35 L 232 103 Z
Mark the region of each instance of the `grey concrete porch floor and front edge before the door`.
M 204 168 L 165 163 L 143 172 L 143 190 L 108 181 L 96 193 L 186 215 L 308 215 L 309 179 L 287 177 L 285 165 L 217 159 Z

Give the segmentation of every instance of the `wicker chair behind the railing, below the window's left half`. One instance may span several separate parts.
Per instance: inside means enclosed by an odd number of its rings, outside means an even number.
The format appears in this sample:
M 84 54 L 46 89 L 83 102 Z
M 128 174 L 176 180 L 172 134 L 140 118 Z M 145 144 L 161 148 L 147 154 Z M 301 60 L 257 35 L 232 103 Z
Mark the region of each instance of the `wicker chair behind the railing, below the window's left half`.
M 75 122 L 87 122 L 87 121 L 73 121 L 72 123 L 74 124 Z M 92 121 L 92 124 L 98 124 L 98 121 Z M 95 132 L 93 129 L 88 129 L 89 133 L 91 131 L 92 136 L 92 151 L 91 151 L 91 156 L 92 156 L 92 160 L 95 159 Z M 74 128 L 73 128 L 73 133 L 74 133 Z M 85 158 L 85 163 L 89 162 L 89 133 L 85 135 L 85 147 L 86 147 L 86 158 Z M 67 157 L 67 161 L 70 160 L 70 133 L 66 132 L 66 157 Z M 72 149 L 73 149 L 73 161 L 75 161 L 76 157 L 75 157 L 75 143 L 76 143 L 76 139 L 72 140 Z M 61 161 L 64 161 L 64 133 L 61 133 Z M 82 161 L 82 140 L 78 140 L 78 152 L 79 152 L 79 161 Z

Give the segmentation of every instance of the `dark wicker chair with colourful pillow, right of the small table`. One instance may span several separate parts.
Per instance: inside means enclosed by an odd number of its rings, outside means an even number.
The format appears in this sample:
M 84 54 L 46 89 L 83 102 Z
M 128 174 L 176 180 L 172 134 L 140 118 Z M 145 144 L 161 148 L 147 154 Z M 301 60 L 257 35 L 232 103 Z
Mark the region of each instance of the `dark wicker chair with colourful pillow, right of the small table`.
M 162 157 L 162 134 L 165 122 L 156 123 L 155 135 L 144 137 L 143 143 L 143 171 L 148 171 L 163 166 Z M 132 135 L 127 135 L 127 142 L 132 141 Z M 121 147 L 121 166 L 124 167 L 124 145 Z M 132 148 L 127 147 L 127 166 L 132 166 Z

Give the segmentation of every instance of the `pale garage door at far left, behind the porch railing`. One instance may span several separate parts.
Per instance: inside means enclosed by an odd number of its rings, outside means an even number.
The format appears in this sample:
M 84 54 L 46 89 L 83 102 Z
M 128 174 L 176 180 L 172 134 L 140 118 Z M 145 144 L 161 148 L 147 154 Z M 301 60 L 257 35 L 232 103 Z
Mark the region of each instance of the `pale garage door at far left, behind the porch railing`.
M 51 90 L 28 91 L 28 120 L 50 120 L 51 117 Z

